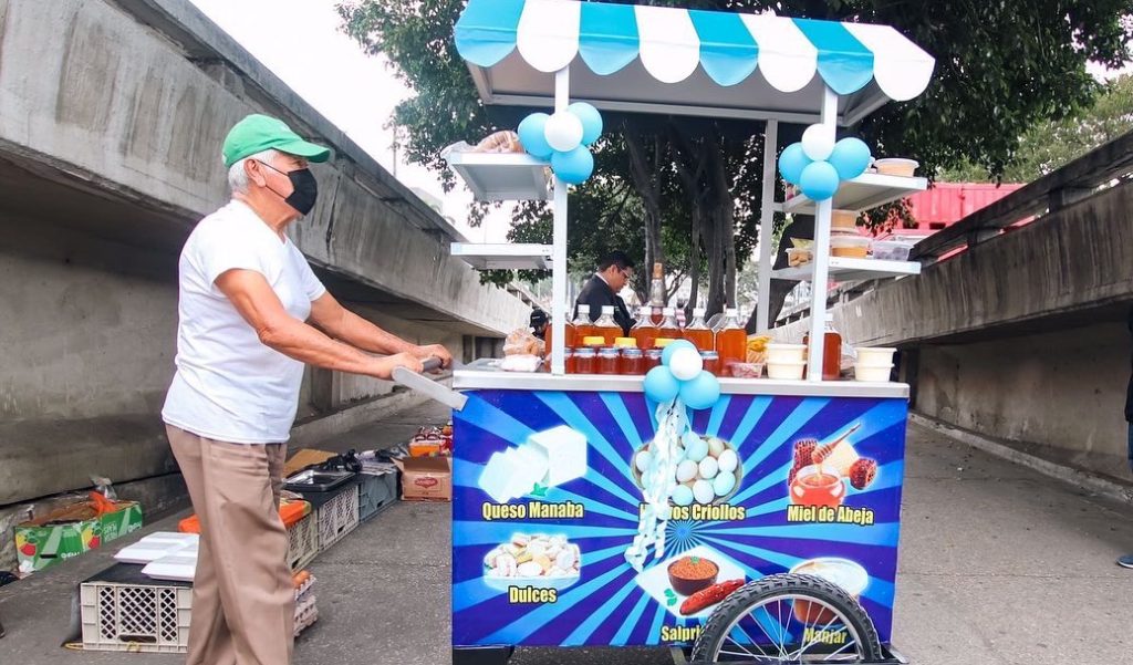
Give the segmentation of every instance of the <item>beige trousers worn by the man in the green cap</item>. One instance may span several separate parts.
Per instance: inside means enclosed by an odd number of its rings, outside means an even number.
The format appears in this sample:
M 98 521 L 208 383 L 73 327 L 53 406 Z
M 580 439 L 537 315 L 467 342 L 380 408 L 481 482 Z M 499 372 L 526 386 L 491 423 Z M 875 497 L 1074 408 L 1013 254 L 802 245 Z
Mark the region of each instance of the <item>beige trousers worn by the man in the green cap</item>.
M 279 517 L 287 445 L 165 430 L 201 520 L 188 665 L 288 665 L 295 587 Z

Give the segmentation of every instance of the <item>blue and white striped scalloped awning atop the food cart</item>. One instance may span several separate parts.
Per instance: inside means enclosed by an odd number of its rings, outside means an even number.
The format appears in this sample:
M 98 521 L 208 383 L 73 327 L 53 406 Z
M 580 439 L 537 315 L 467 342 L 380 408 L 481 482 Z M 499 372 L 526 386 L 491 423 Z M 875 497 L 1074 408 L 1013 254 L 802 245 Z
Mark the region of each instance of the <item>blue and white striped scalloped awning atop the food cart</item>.
M 935 67 L 888 26 L 576 0 L 469 0 L 455 39 L 495 104 L 546 104 L 571 66 L 571 96 L 599 108 L 811 121 L 829 86 L 852 123 Z

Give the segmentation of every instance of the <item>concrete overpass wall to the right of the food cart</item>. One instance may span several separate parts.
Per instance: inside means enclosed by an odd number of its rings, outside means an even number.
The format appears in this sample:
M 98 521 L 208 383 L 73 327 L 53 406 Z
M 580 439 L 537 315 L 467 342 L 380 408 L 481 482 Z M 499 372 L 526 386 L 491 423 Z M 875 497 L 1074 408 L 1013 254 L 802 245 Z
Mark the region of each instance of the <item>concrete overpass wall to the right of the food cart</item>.
M 834 307 L 859 346 L 896 346 L 914 408 L 1090 471 L 1133 479 L 1133 184 Z M 806 322 L 776 330 L 801 340 Z

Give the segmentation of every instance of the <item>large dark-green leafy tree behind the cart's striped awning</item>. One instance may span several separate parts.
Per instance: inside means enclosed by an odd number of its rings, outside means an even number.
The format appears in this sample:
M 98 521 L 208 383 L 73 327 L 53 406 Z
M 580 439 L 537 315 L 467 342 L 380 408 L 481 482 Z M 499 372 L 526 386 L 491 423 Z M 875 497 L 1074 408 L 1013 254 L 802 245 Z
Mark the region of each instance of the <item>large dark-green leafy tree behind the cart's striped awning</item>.
M 641 2 L 642 0 L 638 0 Z M 925 172 L 972 164 L 1007 173 L 1031 146 L 1051 143 L 1034 129 L 1072 121 L 1099 85 L 1088 61 L 1117 68 L 1128 60 L 1133 0 L 654 0 L 650 5 L 861 20 L 896 27 L 937 59 L 920 97 L 893 103 L 849 134 L 877 155 L 909 155 Z M 463 0 L 350 0 L 339 6 L 346 32 L 382 53 L 414 96 L 393 122 L 407 129 L 407 155 L 454 184 L 441 151 L 500 128 L 529 109 L 486 109 L 457 53 L 453 27 Z M 1116 102 L 1115 102 L 1116 108 Z M 705 275 L 707 304 L 734 301 L 736 275 L 755 247 L 763 160 L 759 122 L 607 114 L 596 174 L 571 196 L 571 270 L 585 273 L 603 251 L 623 248 L 644 270 L 664 261 L 693 284 Z M 780 146 L 802 127 L 781 127 Z M 1070 133 L 1073 134 L 1073 133 Z M 1058 140 L 1064 136 L 1057 135 Z M 1068 138 L 1067 138 L 1068 140 Z M 1022 153 L 1021 153 L 1022 146 Z M 1046 162 L 1043 162 L 1046 163 Z M 1041 168 L 1041 167 L 1039 167 Z M 486 206 L 471 211 L 476 223 Z M 900 214 L 898 214 L 900 216 Z M 883 213 L 875 223 L 892 222 Z M 518 207 L 511 238 L 548 241 L 546 205 Z M 691 239 L 696 241 L 690 241 Z M 537 275 L 527 275 L 535 278 Z M 511 275 L 489 275 L 505 281 Z

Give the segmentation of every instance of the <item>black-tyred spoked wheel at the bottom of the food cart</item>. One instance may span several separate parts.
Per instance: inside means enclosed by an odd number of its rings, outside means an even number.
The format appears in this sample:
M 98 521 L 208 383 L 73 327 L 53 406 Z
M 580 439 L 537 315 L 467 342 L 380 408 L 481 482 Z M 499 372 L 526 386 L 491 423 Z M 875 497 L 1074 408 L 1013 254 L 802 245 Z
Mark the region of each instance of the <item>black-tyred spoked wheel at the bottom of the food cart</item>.
M 876 663 L 869 615 L 841 587 L 804 574 L 750 582 L 721 603 L 692 647 L 705 663 Z

